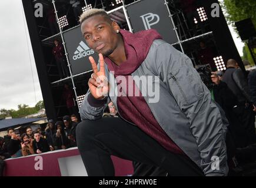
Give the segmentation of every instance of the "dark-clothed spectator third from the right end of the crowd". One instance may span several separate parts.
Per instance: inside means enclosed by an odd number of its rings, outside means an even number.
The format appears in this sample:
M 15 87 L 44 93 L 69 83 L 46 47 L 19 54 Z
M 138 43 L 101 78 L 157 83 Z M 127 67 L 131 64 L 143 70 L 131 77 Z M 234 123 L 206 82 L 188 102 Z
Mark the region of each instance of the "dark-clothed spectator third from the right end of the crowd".
M 55 146 L 56 149 L 66 149 L 68 139 L 65 136 L 64 125 L 62 121 L 56 122 Z

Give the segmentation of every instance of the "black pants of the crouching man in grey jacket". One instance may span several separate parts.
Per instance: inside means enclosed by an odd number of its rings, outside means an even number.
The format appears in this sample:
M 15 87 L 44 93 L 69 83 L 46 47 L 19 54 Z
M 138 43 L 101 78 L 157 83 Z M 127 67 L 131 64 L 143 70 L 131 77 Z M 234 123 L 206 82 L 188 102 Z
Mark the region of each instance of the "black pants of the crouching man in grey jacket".
M 114 176 L 111 155 L 160 167 L 171 176 L 203 176 L 187 156 L 169 152 L 137 126 L 120 118 L 85 120 L 79 123 L 76 133 L 89 176 Z

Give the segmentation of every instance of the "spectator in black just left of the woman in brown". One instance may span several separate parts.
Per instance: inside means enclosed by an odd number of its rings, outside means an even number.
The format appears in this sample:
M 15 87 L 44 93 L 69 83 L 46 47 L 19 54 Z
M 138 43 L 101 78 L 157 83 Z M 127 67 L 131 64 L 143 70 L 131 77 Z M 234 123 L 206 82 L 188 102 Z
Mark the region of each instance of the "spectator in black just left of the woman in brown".
M 12 158 L 21 157 L 21 138 L 19 135 L 16 135 L 15 132 L 11 134 L 11 140 L 7 147 L 8 153 L 11 155 Z

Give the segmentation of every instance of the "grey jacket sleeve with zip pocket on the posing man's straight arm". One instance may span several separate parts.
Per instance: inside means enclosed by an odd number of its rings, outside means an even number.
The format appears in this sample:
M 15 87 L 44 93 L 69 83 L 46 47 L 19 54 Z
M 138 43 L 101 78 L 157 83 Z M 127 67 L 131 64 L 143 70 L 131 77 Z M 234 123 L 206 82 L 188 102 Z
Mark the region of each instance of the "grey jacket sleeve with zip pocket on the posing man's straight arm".
M 188 56 L 169 43 L 161 43 L 154 52 L 155 75 L 165 83 L 169 93 L 189 120 L 189 129 L 197 142 L 201 169 L 206 176 L 228 173 L 225 131 L 220 110 L 211 100 Z M 215 164 L 219 166 L 216 167 Z

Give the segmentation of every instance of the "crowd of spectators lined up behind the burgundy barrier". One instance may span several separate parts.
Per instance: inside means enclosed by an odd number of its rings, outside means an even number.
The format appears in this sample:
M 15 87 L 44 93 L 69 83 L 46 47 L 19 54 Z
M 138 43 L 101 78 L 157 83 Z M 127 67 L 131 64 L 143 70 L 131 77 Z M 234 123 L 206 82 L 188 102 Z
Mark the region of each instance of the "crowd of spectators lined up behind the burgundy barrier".
M 8 135 L 0 137 L 0 156 L 8 159 L 76 147 L 75 129 L 78 123 L 76 115 L 66 115 L 57 122 L 48 120 L 44 131 L 41 127 L 33 131 L 28 126 L 20 136 L 13 128 L 9 128 Z

